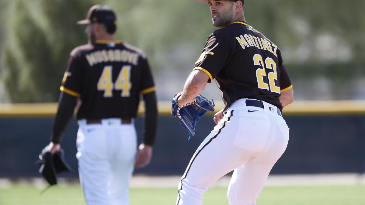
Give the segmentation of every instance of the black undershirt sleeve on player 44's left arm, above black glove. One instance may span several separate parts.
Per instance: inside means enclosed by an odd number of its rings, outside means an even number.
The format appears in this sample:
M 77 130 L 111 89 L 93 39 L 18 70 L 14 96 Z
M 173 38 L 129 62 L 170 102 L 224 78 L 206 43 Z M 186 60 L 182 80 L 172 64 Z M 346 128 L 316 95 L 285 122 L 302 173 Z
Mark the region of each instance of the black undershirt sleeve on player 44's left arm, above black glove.
M 58 109 L 53 123 L 51 141 L 55 144 L 61 142 L 65 129 L 72 117 L 77 97 L 61 92 L 59 95 Z

